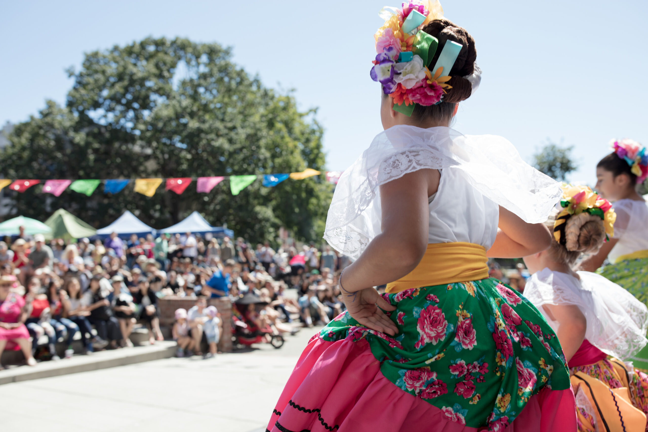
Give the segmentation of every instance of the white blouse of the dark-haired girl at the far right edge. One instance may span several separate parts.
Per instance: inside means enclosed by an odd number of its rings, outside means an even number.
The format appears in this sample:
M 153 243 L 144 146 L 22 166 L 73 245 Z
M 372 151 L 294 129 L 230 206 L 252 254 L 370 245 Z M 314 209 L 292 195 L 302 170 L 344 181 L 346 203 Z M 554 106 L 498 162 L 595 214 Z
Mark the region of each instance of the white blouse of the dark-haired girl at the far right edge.
M 614 263 L 622 255 L 648 249 L 648 203 L 619 199 L 612 204 L 616 212 L 614 238 L 618 238 L 608 254 L 608 260 Z

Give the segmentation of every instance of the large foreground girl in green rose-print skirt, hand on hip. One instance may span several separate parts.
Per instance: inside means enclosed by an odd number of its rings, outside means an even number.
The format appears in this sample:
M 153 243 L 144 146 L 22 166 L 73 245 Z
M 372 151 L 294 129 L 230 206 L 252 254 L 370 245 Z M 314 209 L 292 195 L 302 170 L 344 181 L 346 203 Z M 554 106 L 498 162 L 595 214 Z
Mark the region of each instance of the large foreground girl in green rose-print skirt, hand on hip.
M 561 190 L 505 139 L 448 128 L 480 69 L 442 13 L 382 11 L 371 76 L 385 131 L 341 176 L 325 229 L 357 258 L 340 277 L 348 310 L 311 339 L 273 432 L 576 429 L 553 330 L 486 264 L 546 249 L 538 222 Z M 381 297 L 372 287 L 386 283 Z

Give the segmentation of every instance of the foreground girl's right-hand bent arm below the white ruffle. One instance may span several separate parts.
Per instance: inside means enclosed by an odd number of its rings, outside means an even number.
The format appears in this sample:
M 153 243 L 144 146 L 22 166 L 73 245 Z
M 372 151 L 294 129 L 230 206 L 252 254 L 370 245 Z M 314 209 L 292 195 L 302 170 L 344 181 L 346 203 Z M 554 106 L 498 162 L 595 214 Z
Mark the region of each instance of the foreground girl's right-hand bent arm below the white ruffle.
M 500 206 L 497 237 L 486 256 L 520 258 L 544 251 L 550 245 L 551 233 L 544 223 L 526 223 L 515 213 Z

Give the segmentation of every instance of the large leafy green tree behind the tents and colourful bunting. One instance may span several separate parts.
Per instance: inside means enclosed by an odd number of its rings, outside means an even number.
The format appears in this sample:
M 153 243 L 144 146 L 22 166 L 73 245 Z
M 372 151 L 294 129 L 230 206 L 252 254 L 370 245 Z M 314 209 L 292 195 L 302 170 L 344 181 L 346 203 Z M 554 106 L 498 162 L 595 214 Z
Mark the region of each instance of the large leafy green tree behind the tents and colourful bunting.
M 38 117 L 17 124 L 0 155 L 0 174 L 14 179 L 111 179 L 279 174 L 322 170 L 323 130 L 314 111 L 300 112 L 288 94 L 264 87 L 216 43 L 165 38 L 86 54 L 65 107 L 48 101 Z M 12 194 L 14 192 L 11 192 Z M 102 187 L 86 198 L 56 198 L 40 186 L 14 197 L 17 212 L 43 220 L 64 207 L 97 227 L 124 209 L 153 227 L 198 210 L 237 235 L 272 239 L 280 226 L 296 238 L 321 236 L 330 203 L 323 176 L 262 187 L 238 196 L 223 181 L 209 194 L 195 183 L 181 195 L 161 186 L 152 198 L 126 187 Z

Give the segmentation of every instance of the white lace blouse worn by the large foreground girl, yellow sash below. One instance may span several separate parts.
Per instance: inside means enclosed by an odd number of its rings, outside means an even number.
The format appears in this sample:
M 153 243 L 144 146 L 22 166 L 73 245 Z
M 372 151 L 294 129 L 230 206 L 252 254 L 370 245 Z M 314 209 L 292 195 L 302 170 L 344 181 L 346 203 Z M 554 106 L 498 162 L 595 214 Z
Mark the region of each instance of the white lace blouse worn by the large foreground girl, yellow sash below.
M 499 205 L 540 223 L 562 195 L 555 180 L 524 162 L 502 137 L 393 126 L 376 135 L 340 177 L 324 238 L 338 252 L 358 258 L 382 232 L 380 185 L 425 168 L 443 170 L 430 203 L 429 243 L 469 242 L 489 249 Z

